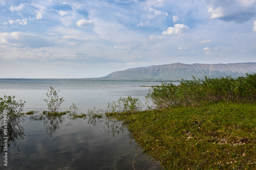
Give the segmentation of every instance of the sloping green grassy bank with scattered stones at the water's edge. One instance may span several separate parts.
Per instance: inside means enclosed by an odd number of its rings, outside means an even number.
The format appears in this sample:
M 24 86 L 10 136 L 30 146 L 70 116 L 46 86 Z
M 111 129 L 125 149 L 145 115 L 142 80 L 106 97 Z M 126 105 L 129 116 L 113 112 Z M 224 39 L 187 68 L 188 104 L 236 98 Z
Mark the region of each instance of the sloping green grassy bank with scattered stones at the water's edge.
M 107 116 L 126 123 L 165 169 L 241 170 L 256 167 L 255 110 L 256 104 L 218 102 Z

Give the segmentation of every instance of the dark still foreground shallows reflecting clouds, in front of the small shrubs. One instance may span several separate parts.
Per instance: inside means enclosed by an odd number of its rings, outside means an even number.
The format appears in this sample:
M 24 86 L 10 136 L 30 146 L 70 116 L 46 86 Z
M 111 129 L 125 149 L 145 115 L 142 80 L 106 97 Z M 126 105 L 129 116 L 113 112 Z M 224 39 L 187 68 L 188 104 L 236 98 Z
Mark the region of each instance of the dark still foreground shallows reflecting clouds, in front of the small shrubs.
M 8 132 L 8 167 L 0 169 L 161 169 L 143 154 L 121 121 L 104 115 L 24 115 Z M 1 157 L 3 146 L 1 139 Z M 37 156 L 24 163 L 31 154 Z

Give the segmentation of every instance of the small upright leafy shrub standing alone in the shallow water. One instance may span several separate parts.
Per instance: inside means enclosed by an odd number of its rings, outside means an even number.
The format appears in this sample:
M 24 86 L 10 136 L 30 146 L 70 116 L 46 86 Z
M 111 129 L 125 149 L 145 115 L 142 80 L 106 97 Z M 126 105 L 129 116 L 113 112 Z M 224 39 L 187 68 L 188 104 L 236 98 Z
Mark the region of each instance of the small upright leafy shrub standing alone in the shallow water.
M 58 90 L 57 92 L 53 87 L 50 87 L 50 90 L 48 90 L 48 92 L 46 93 L 46 96 L 49 98 L 49 101 L 47 99 L 44 99 L 44 101 L 46 101 L 48 109 L 52 113 L 57 112 L 60 108 L 60 104 L 63 101 L 65 101 L 63 100 L 63 97 L 59 99 L 59 96 L 57 95 L 59 92 L 60 90 Z

